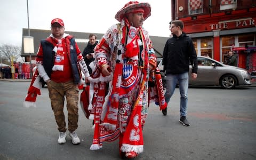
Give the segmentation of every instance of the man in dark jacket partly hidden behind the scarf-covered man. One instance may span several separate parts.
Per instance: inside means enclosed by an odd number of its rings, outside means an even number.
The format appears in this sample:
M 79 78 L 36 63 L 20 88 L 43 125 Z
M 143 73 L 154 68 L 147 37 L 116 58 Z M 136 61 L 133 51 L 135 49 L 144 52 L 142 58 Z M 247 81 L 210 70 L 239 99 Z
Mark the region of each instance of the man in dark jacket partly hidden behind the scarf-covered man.
M 89 35 L 89 42 L 87 46 L 84 48 L 83 51 L 83 57 L 86 63 L 86 66 L 89 70 L 90 75 L 92 74 L 92 69 L 89 66 L 92 61 L 94 61 L 93 55 L 94 55 L 94 47 L 97 45 L 98 41 L 96 41 L 97 36 L 95 34 Z

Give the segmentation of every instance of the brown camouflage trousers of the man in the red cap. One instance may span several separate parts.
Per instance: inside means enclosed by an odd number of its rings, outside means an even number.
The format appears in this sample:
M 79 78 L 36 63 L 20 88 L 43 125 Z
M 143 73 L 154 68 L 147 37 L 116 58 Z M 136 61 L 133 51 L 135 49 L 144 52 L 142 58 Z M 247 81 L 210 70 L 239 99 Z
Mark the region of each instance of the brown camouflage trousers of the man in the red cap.
M 73 81 L 65 83 L 56 83 L 51 81 L 47 84 L 51 106 L 54 112 L 55 120 L 60 132 L 66 132 L 65 115 L 63 112 L 65 96 L 68 110 L 68 130 L 73 132 L 77 129 L 78 123 L 78 86 Z

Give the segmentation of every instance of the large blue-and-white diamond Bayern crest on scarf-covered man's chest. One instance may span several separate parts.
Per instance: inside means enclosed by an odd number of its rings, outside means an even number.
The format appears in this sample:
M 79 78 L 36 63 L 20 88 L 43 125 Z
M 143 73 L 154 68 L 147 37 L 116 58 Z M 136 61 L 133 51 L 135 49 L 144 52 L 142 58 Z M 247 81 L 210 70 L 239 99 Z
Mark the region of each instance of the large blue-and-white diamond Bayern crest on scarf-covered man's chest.
M 127 61 L 127 59 L 124 59 L 121 87 L 129 88 L 134 85 L 135 82 L 137 82 L 137 76 L 138 65 L 136 60 L 133 62 L 129 62 Z

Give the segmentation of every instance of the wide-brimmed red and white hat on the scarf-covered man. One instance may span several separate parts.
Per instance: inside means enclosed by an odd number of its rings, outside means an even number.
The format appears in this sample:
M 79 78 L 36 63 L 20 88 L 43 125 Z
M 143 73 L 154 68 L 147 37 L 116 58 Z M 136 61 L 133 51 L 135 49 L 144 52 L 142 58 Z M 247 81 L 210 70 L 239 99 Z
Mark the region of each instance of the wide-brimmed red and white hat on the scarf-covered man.
M 139 3 L 137 1 L 130 1 L 124 5 L 124 7 L 119 10 L 115 19 L 121 22 L 126 13 L 139 13 L 142 12 L 144 20 L 146 20 L 151 15 L 151 6 L 149 3 Z

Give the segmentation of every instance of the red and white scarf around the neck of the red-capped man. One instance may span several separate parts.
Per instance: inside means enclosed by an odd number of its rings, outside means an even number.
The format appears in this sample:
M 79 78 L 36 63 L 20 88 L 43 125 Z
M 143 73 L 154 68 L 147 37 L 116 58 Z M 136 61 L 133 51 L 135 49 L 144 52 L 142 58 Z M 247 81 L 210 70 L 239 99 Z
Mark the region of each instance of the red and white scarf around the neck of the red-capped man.
M 58 43 L 52 50 L 53 52 L 55 52 L 55 61 L 54 61 L 54 66 L 52 67 L 52 70 L 53 71 L 56 71 L 56 70 L 63 71 L 65 52 L 63 52 L 62 40 L 57 39 L 57 41 L 58 41 Z

